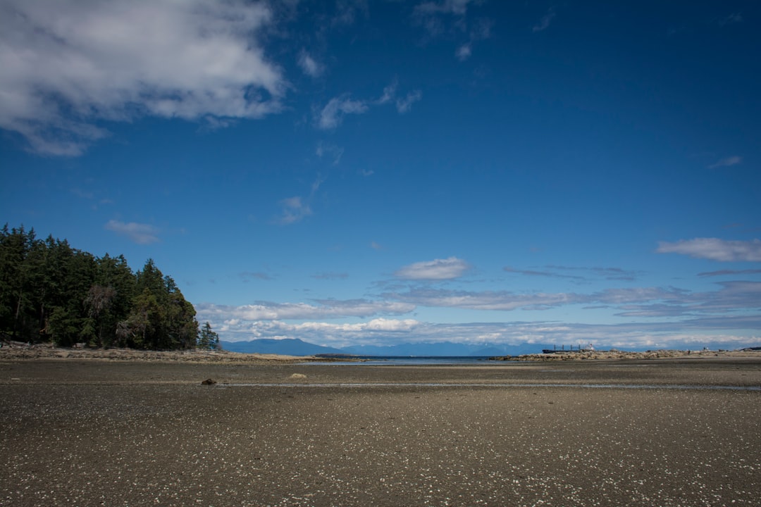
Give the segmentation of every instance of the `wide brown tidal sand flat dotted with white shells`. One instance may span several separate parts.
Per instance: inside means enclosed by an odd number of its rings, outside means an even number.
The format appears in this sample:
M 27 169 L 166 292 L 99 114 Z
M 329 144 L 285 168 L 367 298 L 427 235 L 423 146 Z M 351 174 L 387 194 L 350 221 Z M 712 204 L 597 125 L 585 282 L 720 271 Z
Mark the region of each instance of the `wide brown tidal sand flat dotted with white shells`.
M 218 383 L 201 384 L 209 378 Z M 0 505 L 761 498 L 761 360 L 752 357 L 473 367 L 5 360 L 0 384 Z

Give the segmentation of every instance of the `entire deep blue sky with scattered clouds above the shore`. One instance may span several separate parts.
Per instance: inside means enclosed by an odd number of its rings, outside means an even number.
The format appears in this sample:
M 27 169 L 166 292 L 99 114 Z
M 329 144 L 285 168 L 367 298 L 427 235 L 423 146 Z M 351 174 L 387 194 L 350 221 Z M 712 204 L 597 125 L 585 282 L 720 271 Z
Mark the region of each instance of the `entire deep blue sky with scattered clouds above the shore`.
M 0 0 L 0 222 L 224 341 L 761 346 L 761 5 Z

